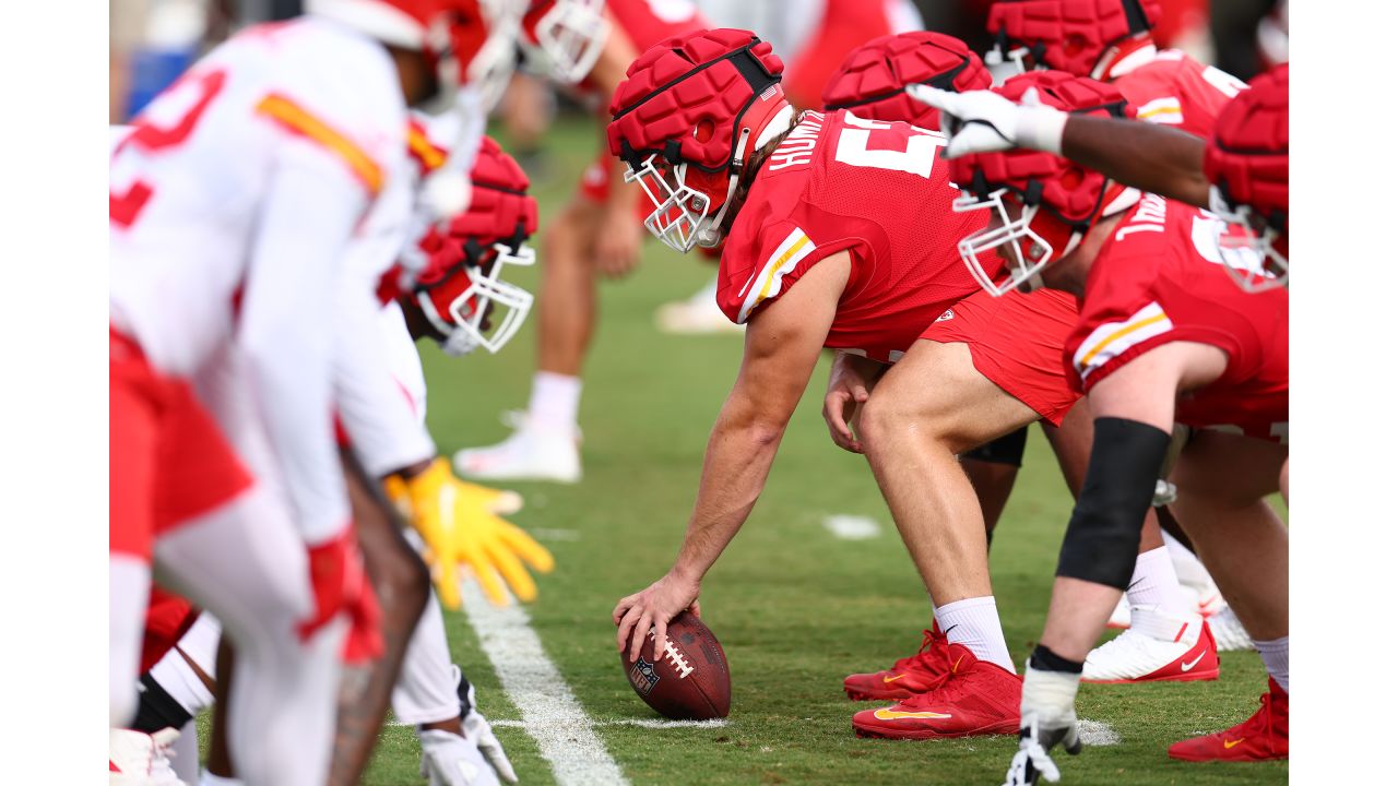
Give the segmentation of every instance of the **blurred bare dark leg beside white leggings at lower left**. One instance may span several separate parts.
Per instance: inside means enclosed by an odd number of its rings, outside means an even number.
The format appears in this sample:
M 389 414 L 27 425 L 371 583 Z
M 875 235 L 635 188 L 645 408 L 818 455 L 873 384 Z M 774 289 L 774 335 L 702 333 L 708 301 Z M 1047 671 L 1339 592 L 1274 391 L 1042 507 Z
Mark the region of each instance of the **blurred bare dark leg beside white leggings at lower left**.
M 359 783 L 389 709 L 404 653 L 428 601 L 426 565 L 403 537 L 387 499 L 375 490 L 354 456 L 343 452 L 345 487 L 365 571 L 379 597 L 383 655 L 345 674 L 336 717 L 330 783 Z

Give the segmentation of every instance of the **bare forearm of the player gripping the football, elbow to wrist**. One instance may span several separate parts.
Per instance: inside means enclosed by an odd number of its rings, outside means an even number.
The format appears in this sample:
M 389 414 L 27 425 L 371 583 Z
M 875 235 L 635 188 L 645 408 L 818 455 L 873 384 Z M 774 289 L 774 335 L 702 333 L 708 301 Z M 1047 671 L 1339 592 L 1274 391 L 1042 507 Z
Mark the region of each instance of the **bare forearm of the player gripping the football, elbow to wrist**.
M 730 399 L 709 436 L 699 498 L 674 568 L 695 582 L 703 579 L 748 520 L 786 431 L 784 420 L 742 410 Z

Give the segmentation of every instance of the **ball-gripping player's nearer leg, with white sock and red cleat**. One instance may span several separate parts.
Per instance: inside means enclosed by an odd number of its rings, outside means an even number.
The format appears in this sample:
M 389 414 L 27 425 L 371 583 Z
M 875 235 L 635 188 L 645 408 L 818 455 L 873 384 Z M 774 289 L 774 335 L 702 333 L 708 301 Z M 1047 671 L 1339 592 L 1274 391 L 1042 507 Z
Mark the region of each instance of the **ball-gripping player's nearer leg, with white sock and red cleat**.
M 948 641 L 939 648 L 944 681 L 893 710 L 856 713 L 858 734 L 1018 729 L 1019 678 L 991 593 L 984 519 L 956 455 L 1039 417 L 976 371 L 966 344 L 927 340 L 913 344 L 865 403 L 865 456 Z

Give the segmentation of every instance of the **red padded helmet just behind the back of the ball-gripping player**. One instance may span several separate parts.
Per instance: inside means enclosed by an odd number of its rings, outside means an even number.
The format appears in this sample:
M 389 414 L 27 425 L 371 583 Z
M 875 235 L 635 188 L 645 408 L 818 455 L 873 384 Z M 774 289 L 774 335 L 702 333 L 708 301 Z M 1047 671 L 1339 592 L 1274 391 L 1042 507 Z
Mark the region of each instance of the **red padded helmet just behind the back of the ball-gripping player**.
M 959 38 L 914 31 L 875 38 L 844 59 L 825 85 L 826 112 L 850 109 L 871 120 L 941 127 L 937 109 L 903 90 L 925 84 L 953 92 L 990 87 L 990 71 Z

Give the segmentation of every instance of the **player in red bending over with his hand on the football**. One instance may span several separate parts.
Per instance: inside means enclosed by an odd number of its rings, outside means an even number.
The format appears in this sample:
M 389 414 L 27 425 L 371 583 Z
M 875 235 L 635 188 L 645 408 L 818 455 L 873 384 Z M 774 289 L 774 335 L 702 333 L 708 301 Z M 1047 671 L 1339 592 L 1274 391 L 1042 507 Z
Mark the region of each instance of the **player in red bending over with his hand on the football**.
M 945 315 L 977 291 L 952 235 L 983 218 L 951 210 L 941 137 L 846 110 L 793 123 L 780 73 L 752 34 L 703 31 L 650 49 L 612 99 L 608 141 L 654 204 L 646 227 L 678 250 L 726 239 L 719 303 L 748 324 L 679 558 L 618 603 L 618 646 L 637 655 L 651 625 L 663 635 L 695 601 L 762 491 L 821 348 L 896 361 L 865 404 L 861 439 L 948 632 L 948 669 L 937 689 L 860 713 L 856 727 L 920 738 L 1011 731 L 1018 677 L 956 453 L 1040 418 L 1058 422 L 1078 399 L 1061 343 L 986 352 L 990 371 L 980 371 L 979 350 Z M 906 203 L 937 220 L 902 220 Z M 1067 333 L 1071 309 L 1061 322 Z

